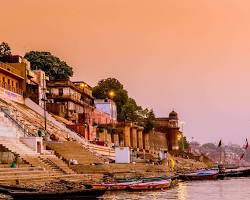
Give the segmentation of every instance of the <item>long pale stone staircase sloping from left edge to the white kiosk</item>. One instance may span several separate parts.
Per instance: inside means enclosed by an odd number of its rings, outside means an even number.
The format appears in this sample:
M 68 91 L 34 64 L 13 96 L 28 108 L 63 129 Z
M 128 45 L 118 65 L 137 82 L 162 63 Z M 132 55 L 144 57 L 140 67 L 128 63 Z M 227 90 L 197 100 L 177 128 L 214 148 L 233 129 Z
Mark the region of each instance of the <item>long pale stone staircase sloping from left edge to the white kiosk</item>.
M 44 117 L 26 105 L 6 99 L 0 99 L 0 108 L 8 109 L 11 117 L 25 127 L 25 130 L 28 133 L 27 135 L 35 136 L 37 130 L 44 127 Z M 47 131 L 49 135 L 54 134 L 59 141 L 66 141 L 68 137 L 78 141 L 82 146 L 88 149 L 91 155 L 95 154 L 95 156 L 100 158 L 114 159 L 114 150 L 112 148 L 89 143 L 77 133 L 67 129 L 65 125 L 58 122 L 55 118 L 47 120 Z

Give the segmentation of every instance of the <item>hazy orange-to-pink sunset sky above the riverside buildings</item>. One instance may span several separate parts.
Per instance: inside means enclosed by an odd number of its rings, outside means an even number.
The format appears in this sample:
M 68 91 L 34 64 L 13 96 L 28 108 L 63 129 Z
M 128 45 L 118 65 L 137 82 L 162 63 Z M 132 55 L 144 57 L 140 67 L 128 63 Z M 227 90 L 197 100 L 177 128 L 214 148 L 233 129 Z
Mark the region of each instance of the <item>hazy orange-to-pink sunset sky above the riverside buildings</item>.
M 201 143 L 250 139 L 249 0 L 0 0 L 0 42 L 50 51 L 94 86 L 119 79 Z

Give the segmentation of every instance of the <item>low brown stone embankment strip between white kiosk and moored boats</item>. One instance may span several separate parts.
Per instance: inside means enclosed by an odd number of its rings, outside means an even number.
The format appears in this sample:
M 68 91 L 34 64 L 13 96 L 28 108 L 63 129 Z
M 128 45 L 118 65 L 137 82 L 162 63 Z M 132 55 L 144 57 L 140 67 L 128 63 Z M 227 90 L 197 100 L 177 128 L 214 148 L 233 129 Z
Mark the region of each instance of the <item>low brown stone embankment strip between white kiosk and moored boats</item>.
M 108 180 L 116 178 L 156 177 L 175 175 L 177 173 L 192 172 L 197 169 L 207 168 L 204 162 L 193 159 L 173 157 L 175 160 L 174 171 L 169 162 L 162 164 L 131 163 L 131 164 L 104 164 L 104 165 L 75 165 L 72 169 L 79 174 L 103 174 Z

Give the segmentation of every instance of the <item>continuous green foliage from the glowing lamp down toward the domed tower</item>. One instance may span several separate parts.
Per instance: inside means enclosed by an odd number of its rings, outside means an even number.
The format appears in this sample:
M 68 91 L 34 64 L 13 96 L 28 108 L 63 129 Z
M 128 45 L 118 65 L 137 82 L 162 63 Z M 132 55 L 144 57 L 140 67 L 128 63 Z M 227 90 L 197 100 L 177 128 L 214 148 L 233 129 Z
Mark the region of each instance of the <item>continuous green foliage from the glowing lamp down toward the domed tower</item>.
M 154 127 L 153 110 L 143 109 L 137 105 L 133 98 L 128 96 L 127 90 L 115 78 L 102 79 L 93 88 L 93 96 L 97 99 L 109 98 L 109 91 L 113 91 L 115 96 L 112 98 L 117 106 L 118 121 L 137 122 L 144 126 L 144 131 L 150 131 Z

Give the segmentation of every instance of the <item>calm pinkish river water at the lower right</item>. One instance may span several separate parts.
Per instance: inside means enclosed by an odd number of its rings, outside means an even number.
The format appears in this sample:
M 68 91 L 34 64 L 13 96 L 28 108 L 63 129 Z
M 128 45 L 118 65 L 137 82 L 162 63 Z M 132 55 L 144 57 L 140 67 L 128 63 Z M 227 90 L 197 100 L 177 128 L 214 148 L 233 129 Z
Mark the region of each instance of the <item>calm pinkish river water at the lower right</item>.
M 102 200 L 249 200 L 250 178 L 182 182 L 171 190 L 107 192 Z

